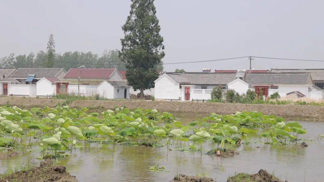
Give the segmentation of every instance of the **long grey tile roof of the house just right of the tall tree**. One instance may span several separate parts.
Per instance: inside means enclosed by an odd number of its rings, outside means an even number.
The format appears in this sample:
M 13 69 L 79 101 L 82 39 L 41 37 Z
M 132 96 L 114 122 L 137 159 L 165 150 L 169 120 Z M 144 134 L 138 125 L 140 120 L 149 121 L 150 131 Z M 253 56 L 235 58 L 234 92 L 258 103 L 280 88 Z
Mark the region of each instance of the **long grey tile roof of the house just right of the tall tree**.
M 235 80 L 236 73 L 203 73 L 203 72 L 187 72 L 187 73 L 166 73 L 172 80 L 179 83 L 203 84 L 203 85 L 219 85 L 227 84 Z

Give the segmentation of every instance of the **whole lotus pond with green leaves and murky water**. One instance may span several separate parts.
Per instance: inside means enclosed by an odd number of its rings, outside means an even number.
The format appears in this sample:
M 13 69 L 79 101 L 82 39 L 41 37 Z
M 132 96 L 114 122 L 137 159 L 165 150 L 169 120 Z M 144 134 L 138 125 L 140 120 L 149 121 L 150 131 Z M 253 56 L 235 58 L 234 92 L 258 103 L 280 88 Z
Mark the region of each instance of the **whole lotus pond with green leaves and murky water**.
M 321 122 L 287 122 L 261 112 L 199 116 L 116 108 L 98 113 L 68 106 L 3 106 L 0 114 L 2 152 L 20 153 L 0 160 L 1 173 L 26 161 L 55 158 L 79 181 L 170 181 L 182 173 L 221 182 L 261 168 L 282 180 L 324 179 Z M 239 154 L 222 155 L 225 150 Z

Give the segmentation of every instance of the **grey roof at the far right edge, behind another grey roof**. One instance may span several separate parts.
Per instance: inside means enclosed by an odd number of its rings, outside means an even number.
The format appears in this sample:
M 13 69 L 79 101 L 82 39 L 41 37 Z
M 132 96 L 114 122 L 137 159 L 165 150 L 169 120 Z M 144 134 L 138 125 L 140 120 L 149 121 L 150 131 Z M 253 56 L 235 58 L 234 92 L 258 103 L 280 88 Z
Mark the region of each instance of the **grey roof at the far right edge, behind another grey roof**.
M 271 69 L 273 73 L 291 73 L 291 72 L 303 72 L 310 73 L 312 79 L 316 80 L 324 80 L 324 69 Z

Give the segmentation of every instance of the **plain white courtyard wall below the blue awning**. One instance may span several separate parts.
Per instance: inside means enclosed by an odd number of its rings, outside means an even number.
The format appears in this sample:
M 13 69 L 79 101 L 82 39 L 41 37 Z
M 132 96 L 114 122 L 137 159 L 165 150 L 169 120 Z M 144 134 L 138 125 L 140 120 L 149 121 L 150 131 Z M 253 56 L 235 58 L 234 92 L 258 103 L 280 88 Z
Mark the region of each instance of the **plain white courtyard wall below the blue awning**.
M 10 94 L 35 97 L 36 85 L 11 84 L 10 88 L 8 89 L 8 95 Z

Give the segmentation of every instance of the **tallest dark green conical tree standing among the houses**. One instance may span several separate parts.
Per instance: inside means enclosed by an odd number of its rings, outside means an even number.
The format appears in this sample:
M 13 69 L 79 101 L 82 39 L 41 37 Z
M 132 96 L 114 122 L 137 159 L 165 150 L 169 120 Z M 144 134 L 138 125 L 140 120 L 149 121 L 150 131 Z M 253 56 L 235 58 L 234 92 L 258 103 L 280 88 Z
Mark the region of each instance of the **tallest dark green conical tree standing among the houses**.
M 132 0 L 130 15 L 122 26 L 120 58 L 126 62 L 126 78 L 133 89 L 143 91 L 154 87 L 158 78 L 156 67 L 165 56 L 154 0 Z

